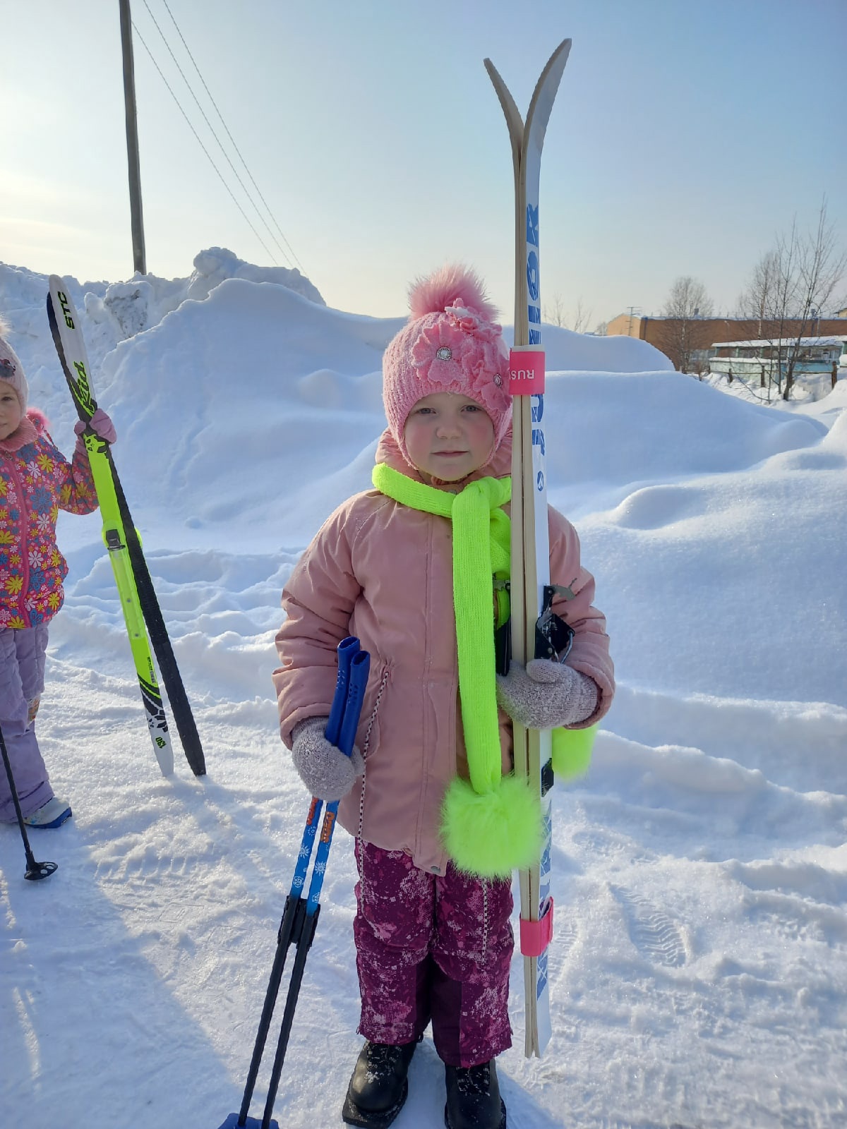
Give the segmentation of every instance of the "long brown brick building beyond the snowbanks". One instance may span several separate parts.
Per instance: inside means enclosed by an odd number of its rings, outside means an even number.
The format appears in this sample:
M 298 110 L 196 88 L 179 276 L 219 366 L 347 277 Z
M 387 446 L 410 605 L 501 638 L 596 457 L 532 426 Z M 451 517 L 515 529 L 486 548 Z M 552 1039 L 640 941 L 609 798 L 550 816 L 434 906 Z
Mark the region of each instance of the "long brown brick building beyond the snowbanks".
M 680 338 L 687 336 L 690 367 L 693 371 L 705 371 L 709 364 L 711 348 L 726 341 L 768 341 L 794 338 L 801 332 L 817 330 L 815 335 L 839 336 L 845 331 L 844 316 L 821 317 L 806 321 L 768 322 L 759 318 L 702 317 L 683 322 L 676 317 L 640 317 L 621 314 L 612 318 L 606 330 L 608 336 L 638 338 L 660 349 L 670 357 L 675 368 L 680 367 Z

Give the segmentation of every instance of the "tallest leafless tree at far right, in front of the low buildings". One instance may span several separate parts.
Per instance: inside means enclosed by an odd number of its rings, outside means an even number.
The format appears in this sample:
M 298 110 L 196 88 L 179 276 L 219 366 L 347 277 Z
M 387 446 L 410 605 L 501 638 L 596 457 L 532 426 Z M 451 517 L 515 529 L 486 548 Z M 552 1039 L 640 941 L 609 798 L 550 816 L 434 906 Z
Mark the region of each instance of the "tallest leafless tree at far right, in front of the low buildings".
M 775 247 L 759 260 L 739 299 L 739 314 L 759 325 L 767 342 L 762 382 L 776 384 L 784 400 L 791 399 L 806 336 L 817 335 L 817 323 L 826 308 L 839 305 L 838 290 L 847 271 L 847 252 L 839 247 L 827 217 L 826 198 L 814 228 L 805 234 L 796 219 Z

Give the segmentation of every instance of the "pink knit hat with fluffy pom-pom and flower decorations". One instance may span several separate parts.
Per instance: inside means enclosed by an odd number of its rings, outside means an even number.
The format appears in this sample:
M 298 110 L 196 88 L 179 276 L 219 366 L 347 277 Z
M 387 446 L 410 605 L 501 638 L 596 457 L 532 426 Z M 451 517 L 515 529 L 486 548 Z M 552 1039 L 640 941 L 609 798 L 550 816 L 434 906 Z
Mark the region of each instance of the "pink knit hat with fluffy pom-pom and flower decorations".
M 481 280 L 465 266 L 443 266 L 412 286 L 409 308 L 383 355 L 385 415 L 403 457 L 411 464 L 403 439 L 409 412 L 433 392 L 475 400 L 491 417 L 497 450 L 512 422 L 508 350 Z

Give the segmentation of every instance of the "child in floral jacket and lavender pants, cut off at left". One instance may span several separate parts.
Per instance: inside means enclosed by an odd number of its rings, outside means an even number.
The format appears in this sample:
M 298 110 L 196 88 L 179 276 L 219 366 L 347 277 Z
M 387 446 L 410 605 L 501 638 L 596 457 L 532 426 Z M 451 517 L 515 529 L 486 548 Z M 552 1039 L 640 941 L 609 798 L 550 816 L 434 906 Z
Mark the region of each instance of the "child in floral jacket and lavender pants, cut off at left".
M 68 574 L 55 522 L 60 509 L 90 514 L 97 495 L 80 437 L 84 425 L 75 426 L 69 463 L 47 435 L 42 412 L 27 411 L 26 377 L 6 332 L 0 322 L 0 730 L 25 822 L 58 828 L 71 808 L 53 795 L 35 736 L 47 625 L 62 606 Z M 114 440 L 105 412 L 95 412 L 91 426 Z M 16 819 L 9 780 L 0 771 L 0 823 Z

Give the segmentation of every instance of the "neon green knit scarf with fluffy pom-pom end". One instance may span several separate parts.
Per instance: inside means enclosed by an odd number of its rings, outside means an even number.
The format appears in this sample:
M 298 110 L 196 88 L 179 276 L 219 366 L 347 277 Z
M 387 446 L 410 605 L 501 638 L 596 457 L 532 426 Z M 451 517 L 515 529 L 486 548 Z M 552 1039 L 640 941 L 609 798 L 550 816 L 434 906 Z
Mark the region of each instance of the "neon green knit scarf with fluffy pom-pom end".
M 471 780 L 456 778 L 447 789 L 442 839 L 461 869 L 505 876 L 538 859 L 541 838 L 538 799 L 523 779 L 501 779 L 491 579 L 509 576 L 512 522 L 500 507 L 512 497 L 512 480 L 478 479 L 454 495 L 379 463 L 372 481 L 388 498 L 453 523 L 459 694 Z

